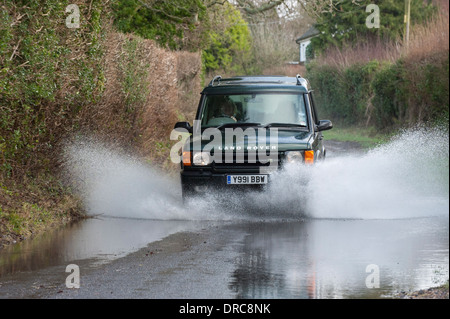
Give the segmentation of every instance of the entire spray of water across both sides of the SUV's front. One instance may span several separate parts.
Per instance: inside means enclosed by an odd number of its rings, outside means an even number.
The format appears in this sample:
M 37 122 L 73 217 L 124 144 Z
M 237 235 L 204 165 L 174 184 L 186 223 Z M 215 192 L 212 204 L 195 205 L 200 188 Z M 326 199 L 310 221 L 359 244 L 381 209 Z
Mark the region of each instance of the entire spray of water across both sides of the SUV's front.
M 410 218 L 448 214 L 448 131 L 406 131 L 361 156 L 290 166 L 263 192 L 181 200 L 180 181 L 92 139 L 66 148 L 70 182 L 89 214 L 158 220 Z M 175 165 L 175 164 L 174 164 Z

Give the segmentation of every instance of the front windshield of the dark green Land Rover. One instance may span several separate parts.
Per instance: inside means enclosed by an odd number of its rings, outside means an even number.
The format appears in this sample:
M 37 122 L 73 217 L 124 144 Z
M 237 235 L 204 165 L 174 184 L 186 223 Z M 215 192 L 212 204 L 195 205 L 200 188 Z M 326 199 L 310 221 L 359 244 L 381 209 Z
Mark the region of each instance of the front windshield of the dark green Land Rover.
M 307 127 L 303 94 L 207 95 L 201 114 L 202 127 L 253 123 Z

